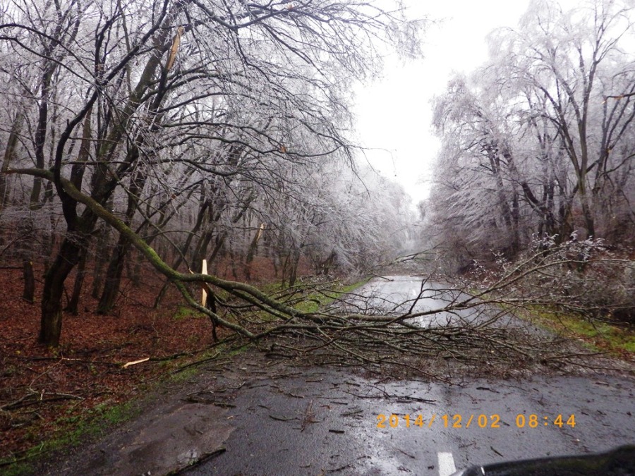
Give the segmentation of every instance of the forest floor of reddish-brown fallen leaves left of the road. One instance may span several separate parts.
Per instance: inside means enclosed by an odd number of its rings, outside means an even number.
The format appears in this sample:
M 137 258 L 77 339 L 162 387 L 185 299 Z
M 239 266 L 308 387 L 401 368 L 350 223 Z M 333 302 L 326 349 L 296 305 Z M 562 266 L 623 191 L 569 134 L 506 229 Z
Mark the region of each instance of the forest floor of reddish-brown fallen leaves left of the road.
M 163 281 L 152 272 L 135 287 L 125 279 L 116 310 L 97 315 L 87 275 L 78 315 L 65 312 L 61 346 L 37 344 L 42 269 L 35 303 L 20 296 L 21 269 L 0 269 L 0 473 L 16 460 L 77 443 L 85 433 L 128 415 L 177 366 L 215 351 L 210 320 L 184 306 L 175 288 L 153 307 Z M 258 279 L 274 279 L 265 270 Z M 90 274 L 90 273 L 89 273 Z M 72 276 L 71 276 L 72 278 Z M 72 288 L 72 279 L 67 286 Z M 222 329 L 219 337 L 222 338 Z M 150 359 L 125 367 L 127 362 Z

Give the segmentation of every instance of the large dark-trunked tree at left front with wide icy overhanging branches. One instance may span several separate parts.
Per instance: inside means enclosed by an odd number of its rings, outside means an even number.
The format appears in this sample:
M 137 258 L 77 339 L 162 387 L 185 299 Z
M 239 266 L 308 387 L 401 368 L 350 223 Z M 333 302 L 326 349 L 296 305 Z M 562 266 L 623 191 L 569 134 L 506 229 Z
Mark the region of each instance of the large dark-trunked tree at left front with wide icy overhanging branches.
M 66 221 L 42 295 L 39 340 L 49 346 L 59 344 L 64 282 L 98 219 L 121 234 L 119 253 L 131 243 L 174 279 L 130 233 L 150 183 L 177 195 L 178 174 L 194 167 L 231 189 L 267 161 L 350 153 L 346 85 L 377 66 L 373 42 L 406 38 L 416 49 L 416 25 L 364 2 L 16 0 L 4 18 L 1 48 L 40 71 L 40 94 L 28 99 L 35 168 L 16 161 L 10 171 L 35 177 L 32 197 L 52 183 Z M 59 114 L 49 116 L 52 104 Z M 117 210 L 123 197 L 122 221 L 107 204 Z

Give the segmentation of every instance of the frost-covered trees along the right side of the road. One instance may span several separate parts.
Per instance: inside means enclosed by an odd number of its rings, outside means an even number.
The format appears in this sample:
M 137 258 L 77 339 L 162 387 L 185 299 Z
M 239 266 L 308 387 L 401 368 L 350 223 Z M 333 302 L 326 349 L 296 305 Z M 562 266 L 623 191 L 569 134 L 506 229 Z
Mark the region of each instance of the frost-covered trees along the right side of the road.
M 532 1 L 435 98 L 442 148 L 422 206 L 450 270 L 545 240 L 632 252 L 634 20 L 628 1 Z

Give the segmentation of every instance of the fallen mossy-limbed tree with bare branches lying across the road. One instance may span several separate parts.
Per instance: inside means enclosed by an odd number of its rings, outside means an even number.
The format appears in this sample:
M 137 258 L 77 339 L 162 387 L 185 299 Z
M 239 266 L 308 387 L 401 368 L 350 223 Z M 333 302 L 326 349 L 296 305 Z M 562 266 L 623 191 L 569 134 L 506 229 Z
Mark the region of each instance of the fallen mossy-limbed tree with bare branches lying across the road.
M 41 169 L 12 172 L 53 178 L 51 172 Z M 501 366 L 521 370 L 535 365 L 600 365 L 588 360 L 598 353 L 581 350 L 566 339 L 539 331 L 517 315 L 537 306 L 553 312 L 575 306 L 581 310 L 580 294 L 558 291 L 555 270 L 622 261 L 595 260 L 589 252 L 571 256 L 576 248 L 563 244 L 537 248 L 525 260 L 513 266 L 506 264 L 499 274 L 480 276 L 480 288 L 473 281 L 462 286 L 439 285 L 439 276 L 430 272 L 421 276 L 418 295 L 408 300 L 391 301 L 372 293 L 338 296 L 329 283 L 265 293 L 246 283 L 173 269 L 124 221 L 81 193 L 71 181 L 61 178 L 61 183 L 73 200 L 89 207 L 99 219 L 126 236 L 179 289 L 194 310 L 207 315 L 214 326 L 237 334 L 243 343 L 256 343 L 268 353 L 315 358 L 322 363 L 394 365 L 430 377 L 441 377 L 447 370 L 431 368 L 426 362 L 429 358 L 480 370 Z M 195 298 L 200 286 L 216 297 L 215 312 Z M 337 300 L 327 307 L 304 310 L 300 304 L 308 295 Z M 422 307 L 428 298 L 437 305 Z M 425 323 L 426 319 L 429 322 Z

